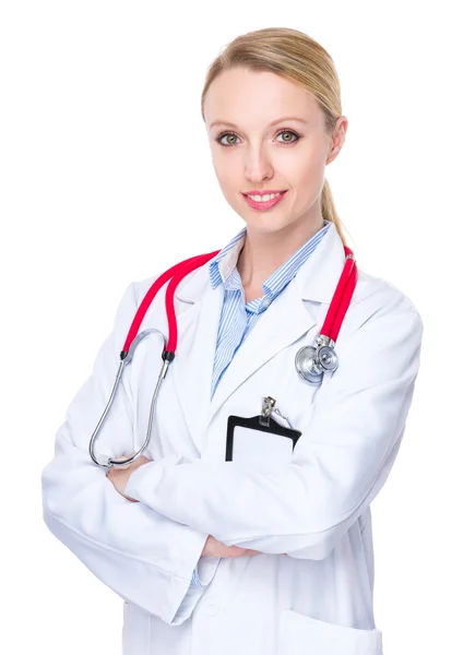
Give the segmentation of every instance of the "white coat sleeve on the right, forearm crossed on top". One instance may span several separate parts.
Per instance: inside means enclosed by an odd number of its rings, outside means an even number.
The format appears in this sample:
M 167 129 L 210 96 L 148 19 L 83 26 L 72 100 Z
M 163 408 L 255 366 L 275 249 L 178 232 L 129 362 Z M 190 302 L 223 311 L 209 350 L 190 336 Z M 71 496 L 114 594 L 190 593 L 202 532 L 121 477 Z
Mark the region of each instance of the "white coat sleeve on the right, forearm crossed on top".
M 328 557 L 393 465 L 422 335 L 422 319 L 406 296 L 379 294 L 372 308 L 357 311 L 356 329 L 339 348 L 340 366 L 320 389 L 290 463 L 259 472 L 171 455 L 135 471 L 127 492 L 227 546 Z

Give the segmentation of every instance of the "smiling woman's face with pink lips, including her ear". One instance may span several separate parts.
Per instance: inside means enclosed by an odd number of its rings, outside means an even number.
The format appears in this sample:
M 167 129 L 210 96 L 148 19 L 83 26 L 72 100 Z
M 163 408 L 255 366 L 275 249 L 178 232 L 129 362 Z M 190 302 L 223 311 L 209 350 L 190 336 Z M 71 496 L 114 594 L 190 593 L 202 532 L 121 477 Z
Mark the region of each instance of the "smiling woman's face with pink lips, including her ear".
M 329 134 L 322 109 L 302 87 L 272 72 L 236 68 L 209 87 L 204 117 L 219 187 L 248 231 L 322 227 L 324 169 L 344 143 L 344 116 Z M 286 191 L 268 210 L 252 209 L 244 196 L 268 189 Z

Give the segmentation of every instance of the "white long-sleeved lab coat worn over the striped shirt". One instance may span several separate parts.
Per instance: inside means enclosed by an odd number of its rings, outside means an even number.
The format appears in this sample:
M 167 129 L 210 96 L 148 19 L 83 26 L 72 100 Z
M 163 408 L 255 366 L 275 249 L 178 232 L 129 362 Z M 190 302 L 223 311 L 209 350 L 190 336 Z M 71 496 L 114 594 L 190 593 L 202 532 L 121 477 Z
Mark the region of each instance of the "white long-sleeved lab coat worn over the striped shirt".
M 422 319 L 388 282 L 358 271 L 334 373 L 302 380 L 295 354 L 319 334 L 344 265 L 334 225 L 260 317 L 210 402 L 223 285 L 207 264 L 177 287 L 178 349 L 153 436 L 120 496 L 88 440 L 112 389 L 127 332 L 157 277 L 132 284 L 92 377 L 72 401 L 43 473 L 49 529 L 121 598 L 123 655 L 381 655 L 372 609 L 370 503 L 404 433 L 419 367 Z M 167 335 L 158 293 L 141 330 Z M 96 441 L 111 456 L 144 441 L 162 337 L 138 347 Z M 271 395 L 301 430 L 273 469 L 225 462 L 227 418 Z M 260 555 L 201 557 L 207 535 Z M 191 587 L 199 562 L 204 588 Z

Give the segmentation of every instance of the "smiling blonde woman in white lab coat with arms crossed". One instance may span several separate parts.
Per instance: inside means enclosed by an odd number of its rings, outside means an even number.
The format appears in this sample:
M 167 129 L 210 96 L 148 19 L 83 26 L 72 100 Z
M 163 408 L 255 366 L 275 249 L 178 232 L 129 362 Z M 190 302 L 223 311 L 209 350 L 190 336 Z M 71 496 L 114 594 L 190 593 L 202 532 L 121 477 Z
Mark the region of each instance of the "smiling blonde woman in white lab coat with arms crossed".
M 246 227 L 177 287 L 178 349 L 147 456 L 108 471 L 88 439 L 158 275 L 129 286 L 57 433 L 44 519 L 126 600 L 124 655 L 381 654 L 370 503 L 403 437 L 423 322 L 403 293 L 359 270 L 339 368 L 318 385 L 295 370 L 345 263 L 324 169 L 347 119 L 319 44 L 286 28 L 236 38 L 209 70 L 202 116 L 218 183 Z M 270 207 L 259 198 L 269 190 L 280 194 Z M 165 290 L 141 329 L 167 334 Z M 140 344 L 100 452 L 127 456 L 143 443 L 159 343 Z M 260 466 L 269 441 L 252 465 L 225 461 L 228 417 L 258 415 L 268 394 L 275 420 L 300 432 L 292 458 Z

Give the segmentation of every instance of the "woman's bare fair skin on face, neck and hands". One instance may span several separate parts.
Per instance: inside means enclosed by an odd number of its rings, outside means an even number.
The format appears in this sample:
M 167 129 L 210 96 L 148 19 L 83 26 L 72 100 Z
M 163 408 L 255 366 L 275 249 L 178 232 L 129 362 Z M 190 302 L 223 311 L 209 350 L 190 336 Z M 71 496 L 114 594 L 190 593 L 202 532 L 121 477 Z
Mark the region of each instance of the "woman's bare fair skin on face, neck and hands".
M 306 122 L 284 120 L 270 126 L 288 116 Z M 347 118 L 341 116 L 332 133 L 327 133 L 322 109 L 304 88 L 274 73 L 244 68 L 224 71 L 214 80 L 204 99 L 204 117 L 218 184 L 247 224 L 237 267 L 248 302 L 263 295 L 265 279 L 323 226 L 324 169 L 341 152 Z M 212 124 L 217 120 L 238 127 Z M 262 212 L 251 209 L 241 195 L 252 189 L 288 191 L 276 206 Z M 126 486 L 130 475 L 147 462 L 142 455 L 128 468 L 109 469 L 106 477 L 121 496 L 138 502 L 126 495 Z M 202 555 L 259 552 L 225 546 L 210 535 Z

